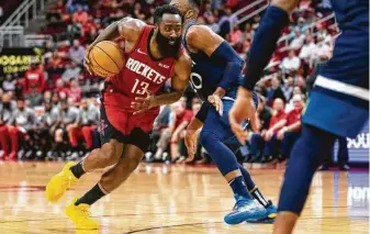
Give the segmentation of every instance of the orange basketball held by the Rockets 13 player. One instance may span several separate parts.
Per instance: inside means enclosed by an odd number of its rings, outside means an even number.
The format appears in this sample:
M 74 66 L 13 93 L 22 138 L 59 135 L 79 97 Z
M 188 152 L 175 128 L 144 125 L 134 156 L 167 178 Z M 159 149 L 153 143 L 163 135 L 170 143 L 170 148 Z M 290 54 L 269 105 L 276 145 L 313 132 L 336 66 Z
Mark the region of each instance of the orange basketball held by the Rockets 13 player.
M 89 60 L 92 71 L 104 78 L 117 75 L 125 63 L 122 49 L 110 41 L 94 45 L 90 51 Z

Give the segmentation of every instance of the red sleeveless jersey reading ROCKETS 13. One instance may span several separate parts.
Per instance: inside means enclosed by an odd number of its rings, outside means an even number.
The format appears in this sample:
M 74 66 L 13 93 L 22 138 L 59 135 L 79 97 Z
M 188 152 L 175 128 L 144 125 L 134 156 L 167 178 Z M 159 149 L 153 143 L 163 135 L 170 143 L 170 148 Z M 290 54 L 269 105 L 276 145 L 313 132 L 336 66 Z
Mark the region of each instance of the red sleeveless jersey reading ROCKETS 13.
M 125 67 L 122 71 L 108 79 L 110 81 L 104 92 L 104 105 L 123 109 L 130 113 L 131 102 L 136 97 L 145 98 L 146 91 L 158 93 L 167 79 L 173 76 L 176 59 L 167 57 L 155 59 L 150 57 L 148 47 L 154 26 L 145 26 L 130 53 L 124 54 Z M 182 52 L 182 48 L 181 48 Z

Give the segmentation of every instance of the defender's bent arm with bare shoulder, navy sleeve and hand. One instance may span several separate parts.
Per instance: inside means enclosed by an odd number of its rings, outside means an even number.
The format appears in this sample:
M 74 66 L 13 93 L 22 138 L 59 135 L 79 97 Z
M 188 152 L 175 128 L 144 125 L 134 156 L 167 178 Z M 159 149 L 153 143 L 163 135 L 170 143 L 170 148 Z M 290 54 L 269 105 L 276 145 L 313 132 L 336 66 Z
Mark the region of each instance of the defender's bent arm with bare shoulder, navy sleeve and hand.
M 201 51 L 211 60 L 226 65 L 223 79 L 213 96 L 209 97 L 209 102 L 222 113 L 221 98 L 233 85 L 238 82 L 244 62 L 227 42 L 208 26 L 194 25 L 190 27 L 186 40 L 190 49 Z

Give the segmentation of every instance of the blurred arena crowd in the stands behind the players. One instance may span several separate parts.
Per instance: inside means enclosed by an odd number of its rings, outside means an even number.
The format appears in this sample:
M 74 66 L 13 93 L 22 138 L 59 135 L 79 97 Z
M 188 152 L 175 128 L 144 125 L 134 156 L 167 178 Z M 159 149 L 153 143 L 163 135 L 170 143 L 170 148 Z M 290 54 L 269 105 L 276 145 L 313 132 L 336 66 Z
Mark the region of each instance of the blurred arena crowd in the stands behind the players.
M 124 16 L 138 18 L 152 23 L 154 7 L 161 3 L 166 1 L 19 0 L 1 3 L 0 157 L 76 159 L 99 146 L 98 98 L 103 80 L 83 69 L 86 47 L 101 29 Z M 225 37 L 242 56 L 245 56 L 267 4 L 266 0 L 208 1 L 199 22 Z M 264 102 L 264 110 L 260 111 L 264 130 L 268 131 L 272 125 L 269 122 L 274 111 L 276 99 L 283 101 L 285 113 L 293 109 L 294 94 L 300 94 L 305 101 L 315 69 L 330 57 L 338 33 L 328 1 L 301 1 L 292 14 L 290 26 L 284 30 L 279 41 L 279 47 L 266 69 L 266 76 L 258 86 L 260 100 Z M 16 104 L 19 99 L 24 99 L 27 109 L 23 118 L 19 113 L 14 116 L 18 105 L 23 104 Z M 66 102 L 65 105 L 60 104 L 63 101 Z M 195 112 L 199 103 L 191 89 L 188 89 L 181 101 L 180 107 L 164 108 L 153 134 L 153 147 L 146 155 L 147 160 L 168 161 L 170 158 L 177 158 L 180 159 L 178 161 L 182 161 L 181 156 L 187 156 L 183 144 L 180 144 L 179 152 L 168 148 L 171 137 L 183 137 L 181 127 L 184 127 L 180 122 L 189 121 L 192 115 L 190 112 Z M 68 118 L 61 118 L 63 108 L 68 109 Z M 83 131 L 74 131 L 72 126 L 77 125 Z M 166 133 L 164 137 L 162 133 Z M 176 135 L 172 135 L 173 133 Z M 10 137 L 11 135 L 13 137 Z M 251 138 L 249 145 L 257 144 Z M 162 144 L 157 144 L 159 140 Z M 15 144 L 14 141 L 20 144 Z M 55 142 L 64 142 L 64 145 L 55 147 Z M 348 145 L 349 163 L 369 161 L 368 129 L 356 140 L 348 140 L 347 143 L 343 140 L 339 143 L 341 144 L 338 146 Z M 68 147 L 70 145 L 76 147 Z M 157 145 L 160 145 L 160 155 L 156 155 Z M 344 151 L 337 151 L 338 148 Z M 339 163 L 347 164 L 346 159 L 340 161 L 346 148 L 335 149 L 332 156 L 334 161 L 339 159 Z M 279 151 L 277 148 L 277 152 Z M 240 160 L 245 159 L 247 163 L 259 164 L 266 159 L 264 149 L 253 151 L 250 154 L 250 148 L 246 147 L 242 153 Z M 197 163 L 210 163 L 206 153 L 201 149 L 198 157 Z M 273 157 L 280 157 L 279 153 Z

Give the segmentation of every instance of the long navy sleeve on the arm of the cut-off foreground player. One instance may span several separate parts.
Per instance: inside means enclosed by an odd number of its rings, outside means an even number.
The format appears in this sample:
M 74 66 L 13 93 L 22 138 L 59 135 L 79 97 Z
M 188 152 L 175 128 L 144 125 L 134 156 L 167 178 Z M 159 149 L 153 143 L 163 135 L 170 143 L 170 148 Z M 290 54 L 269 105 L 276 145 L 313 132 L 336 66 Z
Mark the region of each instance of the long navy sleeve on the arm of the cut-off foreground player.
M 270 5 L 254 37 L 249 54 L 247 56 L 247 67 L 244 88 L 254 90 L 255 85 L 260 79 L 265 67 L 268 65 L 271 56 L 277 47 L 281 30 L 289 23 L 289 14 L 287 11 Z

